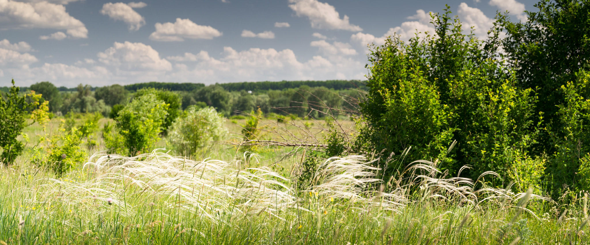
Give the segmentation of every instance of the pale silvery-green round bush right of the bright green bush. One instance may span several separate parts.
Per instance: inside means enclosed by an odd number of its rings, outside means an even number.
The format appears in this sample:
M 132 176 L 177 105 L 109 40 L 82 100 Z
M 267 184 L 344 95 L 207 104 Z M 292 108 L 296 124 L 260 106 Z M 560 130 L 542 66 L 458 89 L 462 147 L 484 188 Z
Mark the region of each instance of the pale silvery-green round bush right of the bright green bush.
M 189 107 L 170 127 L 168 144 L 178 153 L 192 157 L 207 151 L 212 141 L 219 141 L 228 134 L 224 118 L 215 108 Z

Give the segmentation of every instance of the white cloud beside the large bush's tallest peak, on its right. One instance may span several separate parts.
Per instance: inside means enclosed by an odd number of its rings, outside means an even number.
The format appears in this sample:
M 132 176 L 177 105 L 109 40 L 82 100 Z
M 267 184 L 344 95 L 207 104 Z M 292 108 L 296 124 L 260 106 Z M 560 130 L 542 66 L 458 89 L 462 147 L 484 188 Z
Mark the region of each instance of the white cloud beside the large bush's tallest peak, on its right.
M 494 26 L 494 19 L 488 18 L 480 9 L 471 8 L 464 2 L 459 5 L 457 14 L 464 29 L 469 31 L 468 27 L 473 27 L 473 34 L 478 38 L 487 37 L 487 31 Z

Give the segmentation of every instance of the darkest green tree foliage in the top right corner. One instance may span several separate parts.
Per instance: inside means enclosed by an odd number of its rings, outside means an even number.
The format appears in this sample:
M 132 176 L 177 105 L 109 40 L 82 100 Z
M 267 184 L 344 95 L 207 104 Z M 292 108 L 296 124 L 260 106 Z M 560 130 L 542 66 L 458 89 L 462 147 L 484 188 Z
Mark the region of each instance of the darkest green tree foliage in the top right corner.
M 590 1 L 541 0 L 538 12 L 527 12 L 526 22 L 510 22 L 507 15 L 497 17 L 506 32 L 502 41 L 506 62 L 516 71 L 523 88 L 536 88 L 550 127 L 559 127 L 556 112 L 563 100 L 560 90 L 575 80 L 579 69 L 590 60 Z M 557 125 L 554 125 L 553 123 Z M 545 144 L 540 151 L 553 151 Z

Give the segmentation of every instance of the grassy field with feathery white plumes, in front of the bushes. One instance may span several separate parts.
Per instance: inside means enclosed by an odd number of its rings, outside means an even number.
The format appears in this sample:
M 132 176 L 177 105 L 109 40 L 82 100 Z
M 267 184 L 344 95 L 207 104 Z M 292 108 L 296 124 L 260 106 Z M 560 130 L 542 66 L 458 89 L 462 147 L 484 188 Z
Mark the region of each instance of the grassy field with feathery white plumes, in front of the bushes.
M 243 121 L 227 127 L 239 132 Z M 321 138 L 322 123 L 283 127 Z M 272 127 L 265 137 L 280 138 Z M 25 133 L 31 149 L 44 132 L 34 124 Z M 470 180 L 408 161 L 382 183 L 370 159 L 350 155 L 324 160 L 302 187 L 293 147 L 244 161 L 234 145 L 217 144 L 191 160 L 165 150 L 108 155 L 97 141 L 64 176 L 31 164 L 27 151 L 1 165 L 0 244 L 590 244 L 583 193 L 566 202 L 512 193 L 484 184 L 493 173 Z

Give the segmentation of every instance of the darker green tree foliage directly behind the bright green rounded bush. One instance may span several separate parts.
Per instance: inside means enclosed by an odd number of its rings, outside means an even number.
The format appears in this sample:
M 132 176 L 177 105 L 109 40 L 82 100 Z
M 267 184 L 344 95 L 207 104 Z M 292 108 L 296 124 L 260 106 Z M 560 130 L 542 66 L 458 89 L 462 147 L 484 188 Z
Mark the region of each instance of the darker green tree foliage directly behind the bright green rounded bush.
M 162 122 L 162 133 L 167 134 L 168 128 L 172 125 L 172 122 L 178 118 L 181 114 L 181 97 L 176 94 L 175 92 L 168 91 L 168 90 L 156 90 L 155 88 L 143 88 L 138 90 L 133 96 L 135 98 L 141 97 L 145 94 L 153 94 L 156 95 L 158 100 L 166 102 L 168 107 L 166 109 L 166 117 Z

